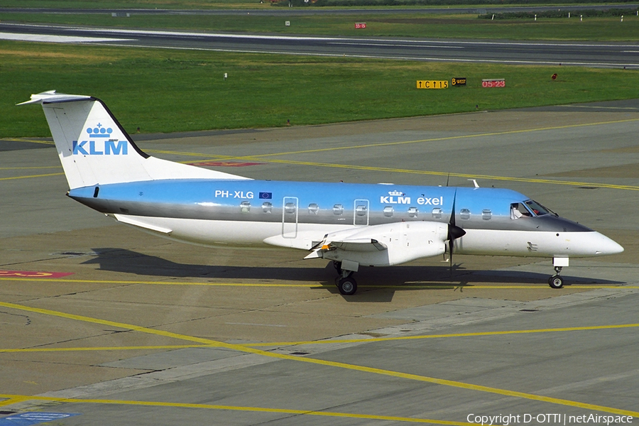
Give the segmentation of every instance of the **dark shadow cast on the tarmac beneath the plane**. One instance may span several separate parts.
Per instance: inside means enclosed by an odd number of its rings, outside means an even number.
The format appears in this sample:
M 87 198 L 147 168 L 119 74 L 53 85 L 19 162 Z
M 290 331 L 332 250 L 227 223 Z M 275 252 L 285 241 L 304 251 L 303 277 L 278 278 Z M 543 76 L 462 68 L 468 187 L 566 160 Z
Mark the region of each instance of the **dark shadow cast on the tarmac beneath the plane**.
M 317 288 L 337 293 L 337 273 L 332 263 L 324 268 L 295 268 L 268 266 L 225 266 L 176 263 L 157 256 L 149 256 L 126 249 L 94 249 L 97 256 L 83 264 L 98 264 L 101 271 L 131 273 L 170 278 L 226 278 L 234 280 L 283 280 L 320 283 Z M 389 266 L 387 268 L 361 268 L 356 273 L 358 293 L 344 297 L 351 302 L 390 302 L 395 291 L 459 289 L 484 284 L 539 284 L 547 283 L 548 273 L 526 271 L 491 271 L 454 265 L 452 276 L 447 264 L 442 266 Z M 622 284 L 621 281 L 574 277 L 562 274 L 565 285 Z M 375 291 L 371 291 L 375 290 Z

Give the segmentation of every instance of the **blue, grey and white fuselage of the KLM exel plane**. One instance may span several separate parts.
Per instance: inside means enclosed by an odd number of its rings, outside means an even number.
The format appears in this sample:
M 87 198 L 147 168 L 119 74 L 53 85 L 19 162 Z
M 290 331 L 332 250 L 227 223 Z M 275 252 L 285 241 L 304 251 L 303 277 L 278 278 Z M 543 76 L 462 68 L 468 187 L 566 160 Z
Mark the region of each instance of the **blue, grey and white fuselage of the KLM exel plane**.
M 577 257 L 606 252 L 607 237 L 555 214 L 513 217 L 513 204 L 528 197 L 498 188 L 197 179 L 96 185 L 70 190 L 69 196 L 173 239 L 295 249 L 311 249 L 317 235 L 361 226 L 447 224 L 455 200 L 457 225 L 466 231 L 455 240 L 456 253 Z

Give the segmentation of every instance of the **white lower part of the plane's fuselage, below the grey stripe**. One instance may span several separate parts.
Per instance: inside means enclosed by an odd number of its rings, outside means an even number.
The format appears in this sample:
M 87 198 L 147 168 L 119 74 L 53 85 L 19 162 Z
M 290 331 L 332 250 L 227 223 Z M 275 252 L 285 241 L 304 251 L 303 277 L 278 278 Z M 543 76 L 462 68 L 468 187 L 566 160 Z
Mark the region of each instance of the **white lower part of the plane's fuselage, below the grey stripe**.
M 310 250 L 317 235 L 362 226 L 339 224 L 297 224 L 296 232 L 283 234 L 280 222 L 240 222 L 170 217 L 132 217 L 121 220 L 146 231 L 176 241 L 202 246 L 280 246 Z M 419 223 L 419 222 L 417 222 Z M 145 225 L 146 226 L 143 226 Z M 157 231 L 165 229 L 168 232 Z M 315 241 L 314 238 L 315 237 Z M 618 251 L 616 244 L 596 231 L 545 232 L 496 229 L 466 229 L 466 235 L 454 240 L 458 254 L 527 257 L 591 257 Z

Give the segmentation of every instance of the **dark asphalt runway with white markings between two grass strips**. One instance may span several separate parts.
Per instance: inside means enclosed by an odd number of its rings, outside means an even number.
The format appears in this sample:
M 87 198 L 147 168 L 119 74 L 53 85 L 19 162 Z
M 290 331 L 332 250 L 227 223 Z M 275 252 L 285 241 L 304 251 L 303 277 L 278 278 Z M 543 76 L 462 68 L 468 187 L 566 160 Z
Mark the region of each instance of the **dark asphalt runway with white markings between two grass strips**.
M 0 23 L 0 38 L 241 53 L 516 65 L 639 67 L 639 43 L 428 40 L 147 31 Z M 60 39 L 68 38 L 68 39 Z M 93 39 L 93 40 L 92 40 Z M 67 40 L 67 41 L 65 41 Z

